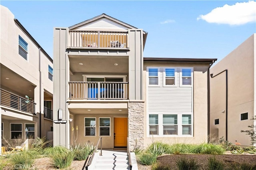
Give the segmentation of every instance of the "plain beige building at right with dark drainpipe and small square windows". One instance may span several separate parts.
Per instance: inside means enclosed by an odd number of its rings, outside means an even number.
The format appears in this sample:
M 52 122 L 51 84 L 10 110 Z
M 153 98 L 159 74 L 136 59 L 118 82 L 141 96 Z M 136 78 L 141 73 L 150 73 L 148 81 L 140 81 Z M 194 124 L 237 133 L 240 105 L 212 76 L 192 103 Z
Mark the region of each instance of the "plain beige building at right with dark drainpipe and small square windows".
M 210 134 L 249 146 L 241 130 L 256 125 L 256 34 L 210 69 Z

